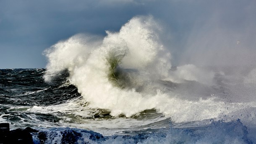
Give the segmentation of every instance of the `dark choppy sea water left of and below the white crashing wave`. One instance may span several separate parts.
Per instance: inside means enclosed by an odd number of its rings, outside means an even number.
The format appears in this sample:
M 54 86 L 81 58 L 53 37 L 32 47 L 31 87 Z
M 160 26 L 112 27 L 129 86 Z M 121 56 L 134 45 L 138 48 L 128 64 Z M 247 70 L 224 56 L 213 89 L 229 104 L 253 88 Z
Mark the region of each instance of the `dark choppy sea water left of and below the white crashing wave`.
M 89 108 L 67 81 L 67 72 L 51 83 L 44 81 L 44 73 L 45 69 L 0 69 L 0 122 L 10 123 L 10 129 L 37 129 L 31 133 L 35 144 L 42 143 L 42 134 L 46 144 L 253 143 L 247 127 L 236 118 L 172 123 L 171 116 L 154 109 L 130 118 L 111 116 L 110 111 Z

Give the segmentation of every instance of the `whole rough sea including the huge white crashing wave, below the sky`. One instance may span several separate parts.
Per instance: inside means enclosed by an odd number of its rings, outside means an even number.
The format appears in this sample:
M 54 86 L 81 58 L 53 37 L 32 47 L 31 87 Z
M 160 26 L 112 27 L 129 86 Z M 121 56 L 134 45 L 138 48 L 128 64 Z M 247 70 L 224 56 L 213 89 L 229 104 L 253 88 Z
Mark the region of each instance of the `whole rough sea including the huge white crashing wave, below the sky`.
M 161 31 L 136 17 L 59 41 L 46 69 L 0 69 L 0 122 L 36 144 L 256 143 L 255 67 L 173 67 Z

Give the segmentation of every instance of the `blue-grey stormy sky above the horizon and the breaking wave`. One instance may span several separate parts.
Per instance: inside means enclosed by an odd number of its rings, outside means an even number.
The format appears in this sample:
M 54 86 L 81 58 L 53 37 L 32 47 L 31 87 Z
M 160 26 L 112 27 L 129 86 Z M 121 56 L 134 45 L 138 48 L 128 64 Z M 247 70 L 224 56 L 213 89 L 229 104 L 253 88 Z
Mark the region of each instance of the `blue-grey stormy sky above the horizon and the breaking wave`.
M 255 0 L 0 0 L 0 69 L 45 68 L 58 41 L 104 36 L 137 15 L 161 23 L 174 65 L 256 66 Z

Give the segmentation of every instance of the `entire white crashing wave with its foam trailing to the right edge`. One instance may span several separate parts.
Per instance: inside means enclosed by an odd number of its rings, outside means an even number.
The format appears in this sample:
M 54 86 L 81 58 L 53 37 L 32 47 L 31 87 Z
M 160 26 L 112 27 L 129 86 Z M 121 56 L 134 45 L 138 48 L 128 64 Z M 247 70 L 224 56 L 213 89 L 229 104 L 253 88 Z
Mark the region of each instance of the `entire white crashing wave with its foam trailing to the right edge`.
M 172 122 L 184 123 L 231 121 L 242 111 L 255 111 L 253 103 L 220 98 L 225 88 L 214 80 L 221 74 L 192 64 L 172 68 L 170 51 L 159 39 L 161 31 L 151 16 L 138 16 L 105 37 L 78 34 L 60 41 L 45 51 L 49 62 L 44 78 L 50 81 L 68 70 L 68 81 L 88 106 L 111 111 L 112 116 L 131 117 L 155 109 Z M 240 119 L 252 122 L 254 116 Z

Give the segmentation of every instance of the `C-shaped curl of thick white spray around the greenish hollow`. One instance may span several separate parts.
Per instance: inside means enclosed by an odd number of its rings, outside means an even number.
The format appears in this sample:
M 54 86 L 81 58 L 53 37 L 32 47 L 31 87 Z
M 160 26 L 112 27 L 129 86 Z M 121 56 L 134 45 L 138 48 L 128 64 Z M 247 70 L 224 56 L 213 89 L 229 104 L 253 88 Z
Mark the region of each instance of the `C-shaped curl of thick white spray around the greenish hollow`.
M 170 53 L 160 43 L 156 30 L 159 31 L 159 26 L 152 17 L 136 17 L 125 24 L 120 32 L 107 32 L 101 45 L 89 44 L 96 45 L 94 48 L 88 49 L 87 44 L 81 45 L 83 42 L 79 42 L 76 37 L 68 39 L 64 44 L 61 41 L 61 44 L 53 46 L 53 50 L 47 51 L 49 64 L 46 80 L 51 73 L 68 69 L 70 82 L 78 87 L 78 92 L 90 106 L 111 110 L 114 116 L 122 113 L 132 116 L 145 109 L 155 108 L 152 105 L 154 95 L 138 93 L 136 87 L 122 90 L 113 85 L 113 81 L 118 82 L 115 74 L 117 67 L 120 72 L 136 69 L 138 73 L 134 79 L 145 82 L 150 77 L 168 75 L 171 67 Z M 71 52 L 71 57 L 68 57 L 65 54 L 73 51 L 69 47 L 71 43 L 75 43 L 74 50 L 78 52 Z M 55 64 L 58 60 L 61 64 Z

